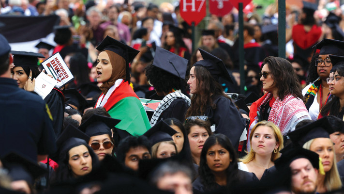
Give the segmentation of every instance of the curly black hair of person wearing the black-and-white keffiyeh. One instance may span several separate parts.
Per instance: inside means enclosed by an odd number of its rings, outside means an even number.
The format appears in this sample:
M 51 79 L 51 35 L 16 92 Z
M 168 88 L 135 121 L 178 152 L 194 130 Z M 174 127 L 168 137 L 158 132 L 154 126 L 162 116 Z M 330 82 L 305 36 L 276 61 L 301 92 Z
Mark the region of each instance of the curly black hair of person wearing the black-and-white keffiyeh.
M 186 81 L 152 64 L 145 67 L 147 80 L 158 92 L 169 93 L 172 89 L 180 90 L 186 86 Z

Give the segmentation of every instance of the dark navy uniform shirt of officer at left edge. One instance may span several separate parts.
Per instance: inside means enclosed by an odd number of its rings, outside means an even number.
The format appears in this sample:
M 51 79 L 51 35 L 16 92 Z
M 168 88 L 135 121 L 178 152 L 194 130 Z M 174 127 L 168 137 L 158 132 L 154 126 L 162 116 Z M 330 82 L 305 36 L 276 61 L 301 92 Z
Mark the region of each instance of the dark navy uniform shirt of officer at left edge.
M 37 161 L 37 155 L 56 151 L 52 116 L 40 96 L 0 78 L 0 107 L 0 158 L 15 150 Z

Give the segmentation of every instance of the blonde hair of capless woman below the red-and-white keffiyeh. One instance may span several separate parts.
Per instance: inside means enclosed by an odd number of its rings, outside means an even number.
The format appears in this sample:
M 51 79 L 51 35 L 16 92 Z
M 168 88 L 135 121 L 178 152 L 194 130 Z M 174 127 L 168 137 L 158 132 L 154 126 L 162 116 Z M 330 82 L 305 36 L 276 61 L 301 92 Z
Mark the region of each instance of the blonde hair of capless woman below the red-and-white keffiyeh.
M 276 142 L 279 143 L 279 146 L 277 148 L 277 152 L 276 153 L 271 152 L 271 161 L 274 162 L 276 159 L 278 159 L 281 156 L 280 150 L 283 149 L 283 136 L 282 136 L 281 130 L 275 124 L 273 124 L 270 121 L 260 121 L 251 130 L 250 137 L 249 137 L 250 138 L 250 146 L 251 147 L 252 147 L 252 137 L 253 137 L 253 134 L 254 134 L 254 130 L 257 129 L 258 127 L 260 127 L 260 126 L 266 126 L 266 127 L 271 128 L 273 130 L 273 132 L 274 132 Z M 252 149 L 251 149 L 247 153 L 247 155 L 244 156 L 243 158 L 239 159 L 239 161 L 243 162 L 243 163 L 248 163 L 248 162 L 253 161 L 254 158 L 255 158 L 255 152 L 252 151 Z

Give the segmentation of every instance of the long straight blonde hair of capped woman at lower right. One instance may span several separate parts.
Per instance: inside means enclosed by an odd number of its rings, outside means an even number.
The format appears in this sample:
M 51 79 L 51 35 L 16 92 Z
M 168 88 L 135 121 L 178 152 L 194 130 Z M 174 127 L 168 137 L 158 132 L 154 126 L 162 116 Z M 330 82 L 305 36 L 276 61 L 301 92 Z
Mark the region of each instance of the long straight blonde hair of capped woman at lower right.
M 314 139 L 316 139 L 316 138 L 314 138 Z M 311 145 L 314 142 L 314 139 L 309 140 L 302 147 L 304 149 L 311 150 Z M 327 138 L 327 139 L 329 139 L 329 138 Z M 331 139 L 329 139 L 329 140 L 331 140 Z M 334 151 L 333 145 L 332 145 L 332 150 Z M 334 153 L 333 153 L 333 165 L 332 165 L 331 169 L 329 169 L 329 172 L 325 173 L 324 185 L 326 187 L 327 192 L 334 191 L 334 190 L 340 189 L 342 187 L 342 181 L 341 181 L 341 178 L 339 176 L 338 169 L 337 169 L 336 155 Z

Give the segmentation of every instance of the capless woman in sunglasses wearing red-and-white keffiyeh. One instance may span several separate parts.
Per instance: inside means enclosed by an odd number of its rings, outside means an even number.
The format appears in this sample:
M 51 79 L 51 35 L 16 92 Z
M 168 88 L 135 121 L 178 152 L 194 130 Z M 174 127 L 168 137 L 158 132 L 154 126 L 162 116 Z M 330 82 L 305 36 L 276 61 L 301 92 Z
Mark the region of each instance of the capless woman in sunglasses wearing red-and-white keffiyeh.
M 265 58 L 259 76 L 267 93 L 251 105 L 249 137 L 259 121 L 271 121 L 286 135 L 300 121 L 311 119 L 302 100 L 298 78 L 287 60 Z M 249 141 L 247 145 L 250 149 Z

